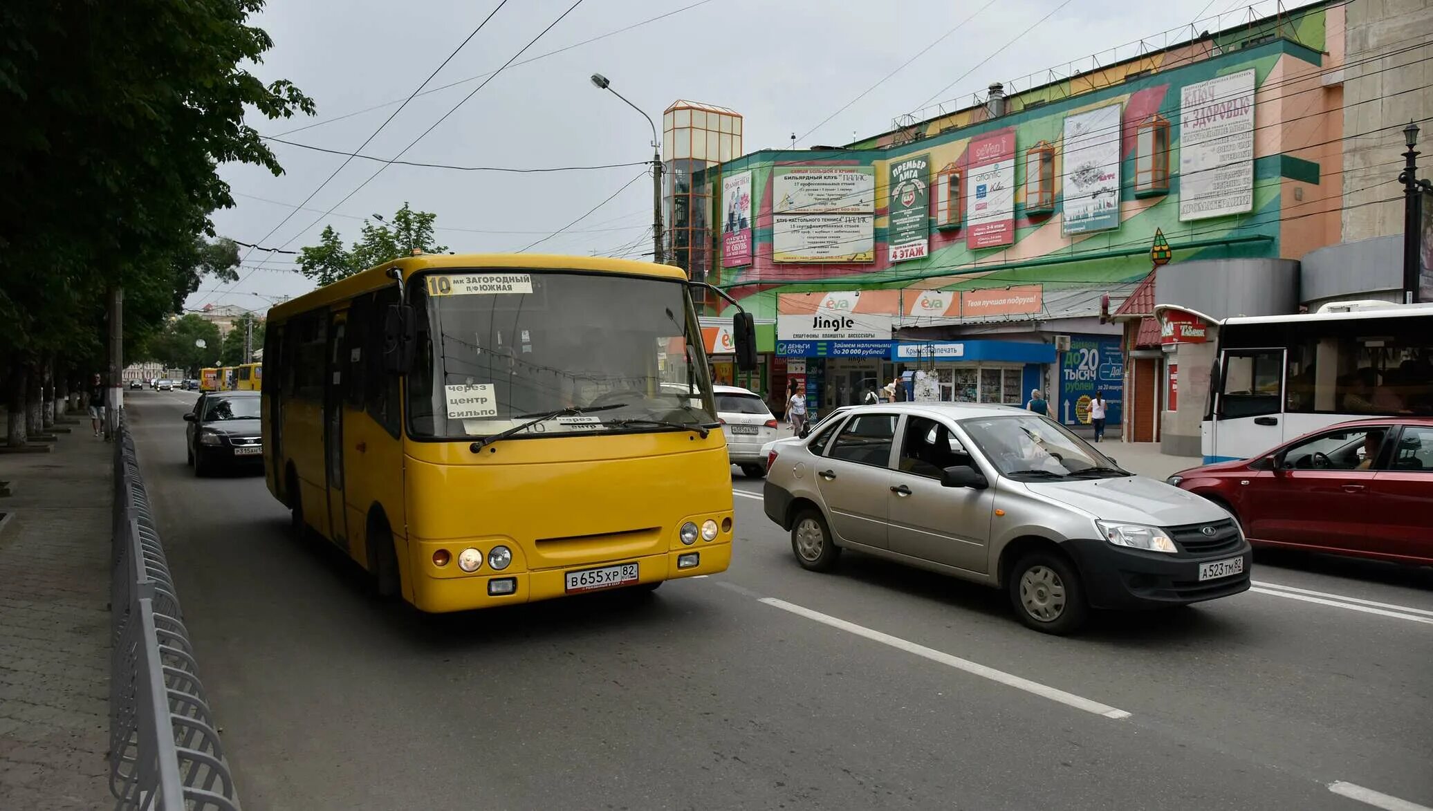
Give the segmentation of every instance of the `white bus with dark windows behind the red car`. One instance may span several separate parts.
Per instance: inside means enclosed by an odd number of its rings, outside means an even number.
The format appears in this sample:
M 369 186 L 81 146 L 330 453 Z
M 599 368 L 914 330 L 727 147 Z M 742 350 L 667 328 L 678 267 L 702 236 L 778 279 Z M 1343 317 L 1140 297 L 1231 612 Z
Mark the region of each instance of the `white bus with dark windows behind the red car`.
M 1370 416 L 1433 416 L 1433 304 L 1348 302 L 1219 324 L 1205 463 Z

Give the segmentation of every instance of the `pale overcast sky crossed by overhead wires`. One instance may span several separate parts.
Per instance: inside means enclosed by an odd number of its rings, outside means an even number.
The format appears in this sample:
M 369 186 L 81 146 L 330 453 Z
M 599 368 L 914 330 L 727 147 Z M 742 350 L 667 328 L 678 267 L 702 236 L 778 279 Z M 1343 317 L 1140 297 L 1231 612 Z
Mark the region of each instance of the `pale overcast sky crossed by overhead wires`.
M 311 119 L 274 122 L 251 115 L 249 122 L 262 135 L 351 152 L 499 1 L 268 0 L 255 23 L 275 44 L 255 73 L 264 80 L 295 82 L 318 110 Z M 496 70 L 572 3 L 509 0 L 427 87 Z M 546 168 L 648 159 L 646 122 L 610 93 L 595 89 L 588 80 L 593 72 L 606 75 L 612 87 L 646 110 L 658 128 L 669 103 L 689 99 L 745 116 L 747 152 L 785 148 L 792 133 L 804 136 L 798 146 L 847 143 L 853 135 L 864 138 L 890 129 L 891 119 L 914 112 L 937 93 L 937 100 L 963 97 L 952 109 L 967 106 L 970 95 L 983 92 L 990 82 L 1026 89 L 1032 80 L 1022 77 L 1032 73 L 1050 67 L 1068 72 L 1065 66 L 1072 60 L 1088 62 L 1102 52 L 1101 62 L 1108 64 L 1111 49 L 1139 37 L 1159 46 L 1165 32 L 1188 26 L 1195 16 L 1207 19 L 1201 29 L 1230 27 L 1247 19 L 1247 9 L 1248 0 L 582 0 L 519 62 L 676 13 L 509 67 L 403 160 Z M 1255 4 L 1260 14 L 1273 9 L 1274 0 Z M 1215 26 L 1212 17 L 1219 13 L 1224 16 Z M 936 47 L 805 135 L 966 19 Z M 1171 43 L 1178 39 L 1168 36 Z M 1134 47 L 1123 47 L 1118 56 L 1134 56 Z M 416 97 L 363 153 L 394 158 L 479 83 L 463 82 Z M 388 102 L 394 103 L 321 123 Z M 291 132 L 297 128 L 308 129 Z M 450 249 L 519 251 L 567 225 L 641 172 L 613 168 L 513 175 L 393 165 L 344 201 L 381 163 L 354 159 L 320 188 L 344 156 L 281 143 L 272 148 L 285 169 L 278 178 L 252 166 L 221 169 L 238 205 L 215 212 L 214 222 L 221 235 L 288 251 L 314 244 L 325 224 L 351 242 L 363 218 L 391 215 L 404 201 L 437 213 L 438 238 Z M 295 212 L 294 206 L 310 195 L 305 209 L 312 211 Z M 321 216 L 330 208 L 332 213 Z M 651 212 L 651 181 L 642 178 L 537 251 L 610 255 L 649 249 Z M 188 307 L 212 302 L 265 309 L 272 297 L 312 288 L 295 272 L 292 255 L 241 255 L 246 258 L 236 285 L 206 282 Z

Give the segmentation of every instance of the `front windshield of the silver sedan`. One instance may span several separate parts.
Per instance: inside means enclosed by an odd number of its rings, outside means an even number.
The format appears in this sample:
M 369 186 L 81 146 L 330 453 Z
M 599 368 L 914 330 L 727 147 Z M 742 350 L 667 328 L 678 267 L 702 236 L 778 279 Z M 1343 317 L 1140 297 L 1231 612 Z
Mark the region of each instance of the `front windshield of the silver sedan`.
M 1113 460 L 1089 443 L 1036 414 L 972 417 L 962 420 L 960 427 L 1002 476 L 1083 479 L 1123 474 Z

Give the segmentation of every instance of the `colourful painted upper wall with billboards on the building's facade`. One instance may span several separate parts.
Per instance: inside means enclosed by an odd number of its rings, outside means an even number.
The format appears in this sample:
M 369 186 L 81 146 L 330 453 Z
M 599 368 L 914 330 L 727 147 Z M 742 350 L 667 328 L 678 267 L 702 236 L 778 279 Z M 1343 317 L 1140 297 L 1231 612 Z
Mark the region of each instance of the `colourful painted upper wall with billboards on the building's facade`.
M 976 120 L 966 129 L 931 129 L 923 139 L 888 148 L 884 143 L 881 148 L 870 148 L 877 140 L 868 140 L 858 145 L 867 146 L 866 149 L 765 150 L 735 160 L 724 166 L 724 172 L 751 172 L 752 178 L 752 262 L 724 272 L 719 284 L 744 299 L 744 305 L 758 317 L 775 318 L 777 295 L 797 291 L 873 285 L 967 291 L 1043 285 L 1046 298 L 1050 298 L 1052 291 L 1059 288 L 1132 287 L 1149 271 L 1149 242 L 1156 231 L 1168 238 L 1175 262 L 1278 256 L 1284 205 L 1280 189 L 1285 182 L 1283 171 L 1287 160 L 1274 152 L 1251 152 L 1255 146 L 1277 149 L 1278 142 L 1252 139 L 1252 106 L 1238 99 L 1251 100 L 1251 90 L 1264 86 L 1273 76 L 1271 89 L 1260 100 L 1277 100 L 1281 97 L 1280 86 L 1290 85 L 1290 75 L 1320 66 L 1323 13 L 1314 10 L 1285 21 L 1284 30 L 1297 29 L 1304 33 L 1307 39 L 1303 43 L 1275 39 L 1245 50 L 1238 50 L 1240 43 L 1234 43 L 1235 47 L 1224 54 L 1211 50 L 1199 57 L 1202 62 L 1187 62 L 1165 73 L 1135 76 L 1122 85 L 1072 99 L 1062 95 L 1058 86 L 1036 87 L 1029 92 L 1030 99 L 1049 96 L 1049 103 L 1020 110 L 1017 99 L 1012 96 L 1012 112 L 1000 119 L 999 126 L 996 122 Z M 1310 23 L 1305 17 L 1317 20 Z M 1168 60 L 1168 54 L 1159 59 Z M 1327 60 L 1327 54 L 1323 59 Z M 1151 66 L 1158 67 L 1158 62 L 1156 59 Z M 1142 62 L 1131 64 L 1136 63 Z M 1125 67 L 1119 70 L 1125 72 Z M 1221 83 L 1222 90 L 1217 87 Z M 1189 87 L 1202 87 L 1198 92 L 1204 100 L 1191 99 L 1189 105 L 1191 110 L 1201 110 L 1198 113 L 1185 110 L 1185 90 Z M 1211 117 L 1205 107 L 1218 105 L 1221 95 L 1232 96 L 1237 103 L 1212 110 Z M 1284 139 L 1317 140 L 1321 132 L 1318 128 L 1323 126 L 1320 116 L 1314 115 L 1317 112 L 1304 103 L 1268 105 L 1267 109 L 1260 109 L 1257 126 L 1277 128 L 1275 132 Z M 1136 130 L 1155 115 L 1169 123 L 1172 182 L 1165 193 L 1136 198 Z M 1242 216 L 1204 216 L 1202 212 L 1198 219 L 1181 216 L 1181 209 L 1188 208 L 1184 196 L 1191 193 L 1181 176 L 1181 159 L 1187 158 L 1189 148 L 1182 122 L 1185 115 L 1201 116 L 1192 130 L 1202 128 L 1204 135 L 1195 139 L 1194 152 L 1199 153 L 1202 149 L 1205 155 L 1214 155 L 1201 159 L 1212 162 L 1215 168 L 1214 172 L 1204 173 L 1225 172 L 1224 183 L 1209 189 L 1214 198 L 1201 199 L 1199 205 L 1211 206 L 1209 211 L 1242 208 Z M 1337 110 L 1331 115 L 1337 115 Z M 1281 116 L 1288 120 L 1281 122 Z M 953 119 L 947 116 L 940 120 Z M 1086 133 L 1088 139 L 1080 138 L 1082 143 L 1072 143 L 1075 139 L 1065 138 L 1066 128 Z M 1025 166 L 1019 158 L 1022 150 L 1039 140 L 1058 148 L 1055 216 L 1032 216 L 1025 208 Z M 993 166 L 999 160 L 992 160 L 987 155 L 992 143 L 999 146 L 997 152 L 1010 156 L 1010 171 L 1002 172 L 1005 182 L 987 176 L 999 168 Z M 1242 146 L 1244 143 L 1248 146 Z M 1242 160 L 1238 158 L 1241 150 L 1245 155 Z M 1072 160 L 1072 152 L 1076 160 Z M 1095 155 L 1080 158 L 1085 152 Z M 1250 153 L 1252 162 L 1248 160 Z M 893 248 L 907 239 L 900 226 L 903 206 L 898 205 L 904 195 L 893 196 L 893 186 L 900 185 L 893 168 L 910 159 L 926 160 L 927 183 L 934 182 L 936 169 L 956 171 L 960 178 L 959 198 L 966 203 L 959 222 L 931 228 L 929 218 L 936 206 L 931 203 L 934 195 L 927 186 L 926 251 L 916 258 Z M 1109 172 L 1112 162 L 1115 171 Z M 1073 176 L 1076 163 L 1095 171 Z M 1324 165 L 1321 171 L 1336 173 L 1341 169 Z M 1109 178 L 1111 173 L 1113 178 Z M 840 181 L 813 181 L 823 175 Z M 860 181 L 854 179 L 857 175 L 874 179 L 868 198 L 874 205 L 867 211 L 848 213 L 870 219 L 868 236 L 863 226 L 854 224 L 823 224 L 814 229 L 808 226 L 808 235 L 794 245 L 790 218 L 802 216 L 811 208 L 833 208 L 847 198 L 856 199 L 857 205 L 864 202 Z M 984 208 L 976 209 L 972 203 L 980 202 L 976 195 L 982 181 L 992 182 L 986 183 Z M 996 185 L 1003 185 L 1010 192 L 1003 203 L 989 199 L 1005 191 L 993 188 Z M 1118 201 L 1112 201 L 1112 211 L 1109 206 L 1082 206 L 1076 201 L 1080 193 L 1091 199 L 1089 195 L 1101 192 Z M 1311 211 L 1305 208 L 1305 216 L 1323 216 L 1310 213 Z M 1328 216 L 1334 219 L 1331 232 L 1336 232 L 1337 211 Z M 1314 225 L 1311 219 L 1304 219 L 1301 226 L 1307 229 Z M 823 229 L 825 234 L 821 234 Z M 837 234 L 837 229 L 845 232 Z M 814 236 L 810 235 L 813 231 Z M 995 244 L 996 239 L 1003 244 Z M 911 238 L 911 244 L 914 241 Z M 811 244 L 821 246 L 811 249 Z M 798 255 L 802 252 L 815 256 L 801 261 Z M 910 304 L 906 299 L 906 305 Z

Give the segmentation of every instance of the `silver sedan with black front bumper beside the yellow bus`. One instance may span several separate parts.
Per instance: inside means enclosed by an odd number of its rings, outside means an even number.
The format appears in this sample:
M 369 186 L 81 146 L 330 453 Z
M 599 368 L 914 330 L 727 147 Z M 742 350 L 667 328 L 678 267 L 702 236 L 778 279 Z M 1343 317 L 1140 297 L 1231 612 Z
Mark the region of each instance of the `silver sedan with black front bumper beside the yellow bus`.
M 1228 512 L 1022 408 L 857 406 L 777 446 L 764 504 L 805 569 L 853 549 L 996 586 L 1045 633 L 1075 630 L 1092 608 L 1250 587 L 1250 544 Z

